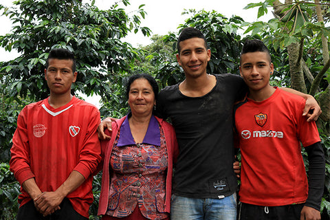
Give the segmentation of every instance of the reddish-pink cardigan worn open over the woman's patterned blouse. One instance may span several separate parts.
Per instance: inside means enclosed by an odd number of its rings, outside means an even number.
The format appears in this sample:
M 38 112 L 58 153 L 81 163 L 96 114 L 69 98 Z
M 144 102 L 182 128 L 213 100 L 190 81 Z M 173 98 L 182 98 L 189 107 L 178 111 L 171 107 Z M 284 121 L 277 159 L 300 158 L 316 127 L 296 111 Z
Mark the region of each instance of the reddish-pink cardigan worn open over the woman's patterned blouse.
M 98 203 L 98 215 L 105 214 L 107 212 L 109 188 L 110 188 L 109 163 L 110 163 L 111 151 L 113 148 L 113 142 L 115 142 L 115 137 L 117 137 L 120 126 L 122 125 L 122 122 L 124 122 L 125 118 L 126 116 L 112 122 L 111 140 L 101 142 L 102 162 L 99 165 L 99 169 L 103 168 L 103 174 L 102 174 L 100 201 Z M 177 155 L 179 155 L 179 148 L 177 147 L 177 137 L 175 136 L 175 131 L 173 129 L 173 126 L 170 125 L 168 122 L 165 122 L 161 118 L 157 118 L 156 116 L 155 118 L 157 119 L 157 122 L 160 124 L 161 128 L 164 131 L 166 148 L 168 153 L 165 212 L 169 213 L 170 196 L 172 192 L 173 164 L 175 164 Z M 109 131 L 107 130 L 106 132 L 109 135 Z

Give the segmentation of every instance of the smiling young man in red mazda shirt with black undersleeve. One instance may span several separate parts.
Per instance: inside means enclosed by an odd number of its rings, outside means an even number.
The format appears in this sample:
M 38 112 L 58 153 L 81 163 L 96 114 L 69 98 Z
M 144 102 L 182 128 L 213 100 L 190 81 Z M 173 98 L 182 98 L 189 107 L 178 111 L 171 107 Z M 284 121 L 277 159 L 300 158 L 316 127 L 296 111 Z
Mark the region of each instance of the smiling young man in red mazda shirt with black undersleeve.
M 320 219 L 325 155 L 315 122 L 303 116 L 305 99 L 270 85 L 270 52 L 248 40 L 241 52 L 248 97 L 236 107 L 242 169 L 239 219 Z M 309 159 L 309 178 L 301 155 Z

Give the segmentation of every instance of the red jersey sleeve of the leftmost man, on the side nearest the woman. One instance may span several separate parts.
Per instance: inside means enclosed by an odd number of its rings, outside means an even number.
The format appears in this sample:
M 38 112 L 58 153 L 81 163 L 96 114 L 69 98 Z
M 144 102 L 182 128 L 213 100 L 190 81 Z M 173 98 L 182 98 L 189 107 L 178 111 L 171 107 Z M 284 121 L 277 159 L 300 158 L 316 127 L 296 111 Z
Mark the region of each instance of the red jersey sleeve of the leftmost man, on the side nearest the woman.
M 100 141 L 98 140 L 98 124 L 100 124 L 100 111 L 94 107 L 88 123 L 87 133 L 80 151 L 79 162 L 74 170 L 81 173 L 85 179 L 96 173 L 98 164 L 101 161 Z

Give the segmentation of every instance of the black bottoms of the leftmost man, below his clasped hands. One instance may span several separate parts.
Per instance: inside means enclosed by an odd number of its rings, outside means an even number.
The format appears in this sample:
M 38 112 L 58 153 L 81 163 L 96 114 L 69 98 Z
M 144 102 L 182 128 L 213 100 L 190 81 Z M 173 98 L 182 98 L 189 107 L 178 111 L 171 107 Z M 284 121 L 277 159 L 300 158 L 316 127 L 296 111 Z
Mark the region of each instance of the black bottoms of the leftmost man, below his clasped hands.
M 43 215 L 36 210 L 31 200 L 19 208 L 17 220 L 87 220 L 86 217 L 83 217 L 74 210 L 72 203 L 67 198 L 63 199 L 60 207 L 60 210 L 56 210 L 53 214 L 43 217 Z

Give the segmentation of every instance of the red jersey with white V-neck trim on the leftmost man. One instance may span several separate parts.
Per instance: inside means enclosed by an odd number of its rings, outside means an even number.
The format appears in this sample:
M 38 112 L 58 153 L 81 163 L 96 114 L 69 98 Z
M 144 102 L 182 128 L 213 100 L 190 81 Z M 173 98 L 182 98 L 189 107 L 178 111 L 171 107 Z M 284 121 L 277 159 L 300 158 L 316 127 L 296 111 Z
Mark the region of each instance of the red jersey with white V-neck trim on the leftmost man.
M 98 109 L 76 97 L 57 109 L 48 98 L 28 104 L 19 114 L 12 138 L 10 170 L 20 184 L 34 177 L 43 192 L 55 191 L 72 170 L 78 171 L 86 180 L 67 197 L 79 214 L 89 217 L 91 174 L 100 162 L 98 124 Z M 23 206 L 31 198 L 23 188 L 21 192 Z

